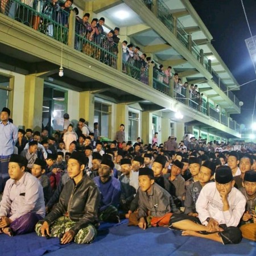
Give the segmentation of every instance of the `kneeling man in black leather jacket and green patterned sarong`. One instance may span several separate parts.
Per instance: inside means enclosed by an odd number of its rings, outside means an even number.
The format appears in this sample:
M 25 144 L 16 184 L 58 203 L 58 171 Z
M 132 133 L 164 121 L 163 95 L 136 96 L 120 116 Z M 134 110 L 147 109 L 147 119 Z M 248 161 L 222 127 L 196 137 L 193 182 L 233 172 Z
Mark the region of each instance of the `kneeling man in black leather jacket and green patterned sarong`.
M 60 237 L 60 243 L 90 243 L 96 237 L 97 210 L 100 192 L 85 173 L 88 158 L 82 152 L 73 152 L 68 160 L 71 178 L 60 194 L 59 203 L 36 224 L 38 236 Z M 72 196 L 71 196 L 72 195 Z

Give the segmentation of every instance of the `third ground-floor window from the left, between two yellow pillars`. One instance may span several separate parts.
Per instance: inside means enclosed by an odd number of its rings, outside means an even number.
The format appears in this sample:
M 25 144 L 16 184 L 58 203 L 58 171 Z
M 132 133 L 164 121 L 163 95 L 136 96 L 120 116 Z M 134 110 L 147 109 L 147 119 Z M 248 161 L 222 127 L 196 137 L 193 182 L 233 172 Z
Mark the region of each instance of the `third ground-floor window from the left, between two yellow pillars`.
M 98 122 L 98 130 L 101 137 L 109 138 L 109 127 L 111 118 L 111 105 L 94 102 L 94 123 Z

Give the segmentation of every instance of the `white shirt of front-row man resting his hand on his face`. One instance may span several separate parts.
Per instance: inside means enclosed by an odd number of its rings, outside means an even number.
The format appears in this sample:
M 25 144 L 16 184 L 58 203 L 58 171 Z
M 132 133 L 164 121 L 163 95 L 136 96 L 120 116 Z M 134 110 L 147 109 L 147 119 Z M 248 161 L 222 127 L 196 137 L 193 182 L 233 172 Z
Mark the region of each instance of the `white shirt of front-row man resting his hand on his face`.
M 232 188 L 228 195 L 229 210 L 223 212 L 223 203 L 216 183 L 208 183 L 203 187 L 196 201 L 196 212 L 203 225 L 207 225 L 208 217 L 214 218 L 218 224 L 237 226 L 245 212 L 246 199 L 240 191 Z

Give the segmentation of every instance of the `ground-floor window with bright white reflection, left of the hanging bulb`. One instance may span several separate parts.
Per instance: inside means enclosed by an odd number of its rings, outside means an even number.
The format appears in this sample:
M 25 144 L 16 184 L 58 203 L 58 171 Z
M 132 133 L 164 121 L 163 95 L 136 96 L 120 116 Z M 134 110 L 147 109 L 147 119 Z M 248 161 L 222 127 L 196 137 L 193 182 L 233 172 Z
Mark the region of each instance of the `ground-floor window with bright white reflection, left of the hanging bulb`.
M 63 131 L 64 113 L 67 112 L 68 92 L 44 85 L 43 127 L 49 133 Z

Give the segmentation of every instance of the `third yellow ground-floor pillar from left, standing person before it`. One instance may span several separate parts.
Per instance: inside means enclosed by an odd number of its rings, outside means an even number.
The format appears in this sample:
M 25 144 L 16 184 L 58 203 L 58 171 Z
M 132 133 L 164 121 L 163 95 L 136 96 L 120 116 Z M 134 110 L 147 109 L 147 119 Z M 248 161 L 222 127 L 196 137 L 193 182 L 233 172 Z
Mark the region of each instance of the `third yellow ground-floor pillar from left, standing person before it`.
M 129 129 L 129 106 L 123 103 L 117 104 L 116 113 L 115 131 L 119 131 L 119 127 L 121 123 L 123 123 L 123 125 L 125 125 L 125 141 L 127 141 Z

